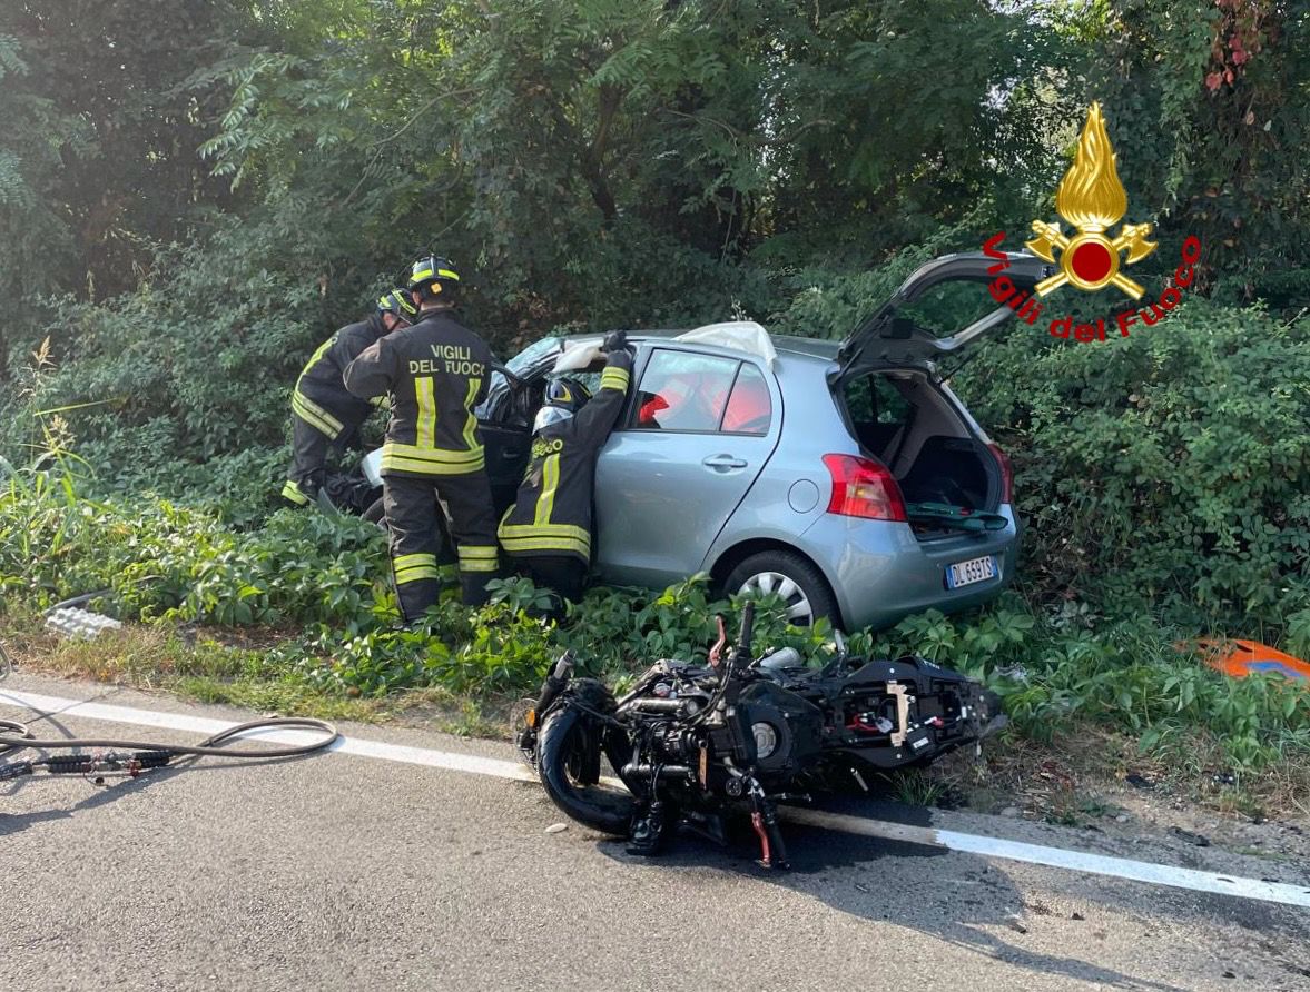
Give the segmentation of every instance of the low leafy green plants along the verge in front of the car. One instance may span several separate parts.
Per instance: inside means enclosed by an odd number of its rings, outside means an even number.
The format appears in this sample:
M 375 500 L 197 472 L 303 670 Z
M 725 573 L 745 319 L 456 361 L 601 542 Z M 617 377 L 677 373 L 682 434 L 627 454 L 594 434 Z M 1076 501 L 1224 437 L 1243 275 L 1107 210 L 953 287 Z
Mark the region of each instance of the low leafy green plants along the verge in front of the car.
M 381 533 L 371 525 L 283 510 L 259 530 L 236 533 L 211 514 L 164 501 L 84 500 L 43 475 L 12 479 L 0 495 L 0 548 L 7 599 L 45 606 L 103 589 L 96 607 L 165 631 L 196 623 L 279 627 L 267 653 L 225 661 L 210 654 L 187 673 L 255 674 L 329 696 L 439 687 L 512 698 L 532 692 L 566 649 L 584 670 L 621 684 L 654 658 L 703 658 L 715 616 L 732 629 L 740 607 L 713 599 L 698 576 L 660 594 L 595 589 L 557 626 L 533 618 L 540 593 L 515 578 L 499 581 L 493 602 L 472 612 L 452 588 L 428 629 L 405 631 L 383 578 Z M 812 661 L 833 650 L 825 623 L 798 629 L 786 624 L 781 603 L 761 606 L 761 650 L 793 647 Z M 1235 768 L 1310 753 L 1302 688 L 1277 677 L 1224 678 L 1172 647 L 1186 636 L 1144 618 L 1107 623 L 1086 611 L 1034 611 L 1011 594 L 981 616 L 929 611 L 891 631 L 859 631 L 849 649 L 920 654 L 985 679 L 1017 728 L 1038 739 L 1090 720 L 1148 747 L 1213 732 Z

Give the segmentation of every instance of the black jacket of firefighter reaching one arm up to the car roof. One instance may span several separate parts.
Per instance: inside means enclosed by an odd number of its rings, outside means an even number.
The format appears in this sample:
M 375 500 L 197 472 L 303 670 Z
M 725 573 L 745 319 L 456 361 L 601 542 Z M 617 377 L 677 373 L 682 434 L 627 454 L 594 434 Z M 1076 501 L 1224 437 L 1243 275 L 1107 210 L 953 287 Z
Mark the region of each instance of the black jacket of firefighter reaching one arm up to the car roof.
M 533 438 L 516 503 L 500 518 L 500 544 L 511 555 L 571 555 L 591 561 L 596 455 L 624 407 L 631 368 L 626 349 L 612 351 L 596 395 Z

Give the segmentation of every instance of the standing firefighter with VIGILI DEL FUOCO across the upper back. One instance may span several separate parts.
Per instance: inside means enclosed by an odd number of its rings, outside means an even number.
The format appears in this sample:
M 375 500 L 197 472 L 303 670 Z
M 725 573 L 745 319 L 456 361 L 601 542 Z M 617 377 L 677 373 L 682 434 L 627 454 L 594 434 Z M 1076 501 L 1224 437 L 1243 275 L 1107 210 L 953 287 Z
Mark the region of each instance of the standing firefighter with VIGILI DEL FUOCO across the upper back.
M 456 318 L 458 285 L 449 260 L 428 255 L 415 262 L 409 288 L 418 319 L 346 366 L 346 389 L 356 397 L 392 395 L 383 505 L 396 594 L 411 627 L 440 592 L 438 505 L 449 521 L 465 605 L 487 601 L 486 584 L 496 571 L 495 509 L 473 414 L 487 393 L 491 351 Z

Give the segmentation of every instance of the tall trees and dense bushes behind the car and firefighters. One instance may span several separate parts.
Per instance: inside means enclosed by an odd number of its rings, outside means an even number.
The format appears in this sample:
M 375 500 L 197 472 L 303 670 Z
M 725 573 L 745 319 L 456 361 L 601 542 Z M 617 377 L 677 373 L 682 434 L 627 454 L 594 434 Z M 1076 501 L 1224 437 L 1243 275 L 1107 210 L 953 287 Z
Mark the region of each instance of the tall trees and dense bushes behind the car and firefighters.
M 62 410 L 97 486 L 249 521 L 304 356 L 428 249 L 502 355 L 732 313 L 840 338 L 1051 216 L 1099 99 L 1162 243 L 1140 277 L 1195 234 L 1209 302 L 1114 348 L 1011 335 L 962 387 L 1066 542 L 1051 588 L 1275 620 L 1305 581 L 1307 27 L 1298 0 L 16 0 L 0 452 Z

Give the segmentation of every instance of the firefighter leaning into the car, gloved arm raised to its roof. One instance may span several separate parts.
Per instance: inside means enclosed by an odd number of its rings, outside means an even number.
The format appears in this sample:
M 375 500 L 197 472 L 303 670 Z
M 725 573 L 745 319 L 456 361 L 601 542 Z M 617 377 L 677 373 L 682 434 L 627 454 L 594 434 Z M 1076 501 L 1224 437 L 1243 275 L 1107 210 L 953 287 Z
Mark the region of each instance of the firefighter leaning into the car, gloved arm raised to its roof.
M 566 599 L 582 595 L 591 565 L 591 500 L 596 455 L 627 394 L 633 357 L 622 331 L 605 338 L 600 391 L 553 380 L 533 424 L 532 461 L 516 503 L 500 520 L 500 544 L 538 586 Z

